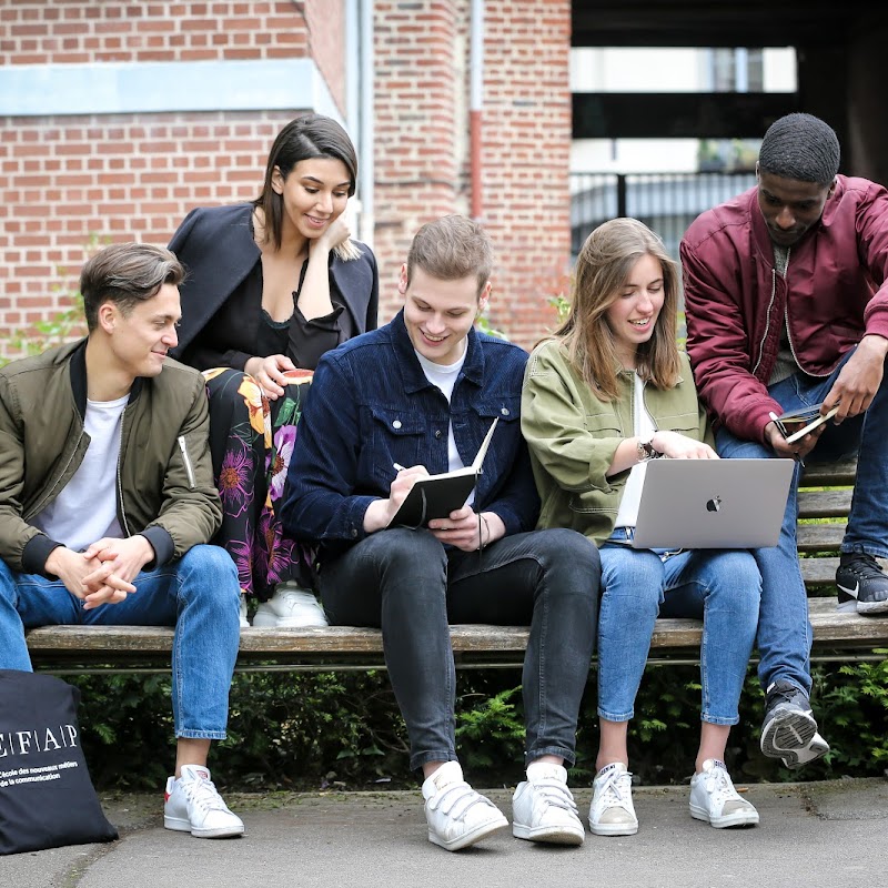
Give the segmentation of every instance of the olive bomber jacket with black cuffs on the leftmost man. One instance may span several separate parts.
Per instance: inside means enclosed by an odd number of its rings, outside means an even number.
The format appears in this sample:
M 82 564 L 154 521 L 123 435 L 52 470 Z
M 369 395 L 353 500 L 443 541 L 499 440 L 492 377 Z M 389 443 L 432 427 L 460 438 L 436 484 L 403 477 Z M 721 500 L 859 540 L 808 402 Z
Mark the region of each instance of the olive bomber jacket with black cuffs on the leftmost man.
M 85 340 L 0 370 L 0 557 L 13 571 L 46 575 L 60 545 L 29 521 L 83 461 L 85 407 Z M 117 507 L 124 534 L 154 548 L 145 569 L 208 543 L 221 524 L 209 425 L 198 371 L 168 359 L 160 375 L 135 380 L 123 412 Z

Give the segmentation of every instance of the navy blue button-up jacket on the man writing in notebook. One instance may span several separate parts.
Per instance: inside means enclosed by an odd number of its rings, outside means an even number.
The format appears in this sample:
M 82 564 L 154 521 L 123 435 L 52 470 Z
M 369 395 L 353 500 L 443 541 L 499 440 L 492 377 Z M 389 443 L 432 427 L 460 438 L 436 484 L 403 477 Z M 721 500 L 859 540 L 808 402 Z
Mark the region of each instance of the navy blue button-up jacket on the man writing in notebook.
M 475 490 L 475 509 L 494 512 L 507 534 L 533 529 L 539 498 L 521 434 L 527 353 L 471 330 L 451 403 L 428 382 L 403 311 L 327 352 L 314 373 L 287 473 L 281 517 L 295 539 L 335 555 L 366 536 L 364 513 L 386 498 L 394 463 L 446 472 L 447 432 L 465 465 L 494 417 L 500 423 Z

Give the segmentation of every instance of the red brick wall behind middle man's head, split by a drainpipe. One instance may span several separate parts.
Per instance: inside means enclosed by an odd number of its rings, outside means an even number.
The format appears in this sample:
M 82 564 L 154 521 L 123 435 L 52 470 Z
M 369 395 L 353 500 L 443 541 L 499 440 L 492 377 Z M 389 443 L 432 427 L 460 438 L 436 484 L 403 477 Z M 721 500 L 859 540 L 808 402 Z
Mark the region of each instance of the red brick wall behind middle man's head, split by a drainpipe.
M 486 3 L 483 221 L 497 254 L 492 324 L 529 346 L 569 261 L 571 4 Z M 376 253 L 382 312 L 420 224 L 471 206 L 470 3 L 377 2 Z

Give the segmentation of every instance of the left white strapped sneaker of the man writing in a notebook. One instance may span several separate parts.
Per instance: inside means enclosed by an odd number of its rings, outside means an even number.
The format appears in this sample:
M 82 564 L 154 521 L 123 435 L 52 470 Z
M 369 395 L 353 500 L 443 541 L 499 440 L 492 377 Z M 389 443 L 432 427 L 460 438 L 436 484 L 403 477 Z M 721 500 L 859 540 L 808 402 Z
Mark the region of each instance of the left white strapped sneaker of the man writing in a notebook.
M 448 851 L 474 845 L 508 826 L 503 813 L 465 780 L 458 761 L 445 761 L 423 784 L 428 841 Z

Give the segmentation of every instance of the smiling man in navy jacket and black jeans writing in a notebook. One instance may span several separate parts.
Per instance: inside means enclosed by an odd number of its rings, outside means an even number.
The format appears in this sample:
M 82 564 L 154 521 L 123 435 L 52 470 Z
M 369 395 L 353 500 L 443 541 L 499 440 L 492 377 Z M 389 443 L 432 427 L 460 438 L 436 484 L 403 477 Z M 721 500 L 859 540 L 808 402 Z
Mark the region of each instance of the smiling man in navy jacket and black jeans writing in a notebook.
M 539 503 L 518 415 L 527 354 L 473 329 L 492 266 L 471 220 L 420 229 L 401 270 L 404 309 L 317 365 L 282 512 L 287 533 L 321 544 L 331 624 L 382 627 L 428 838 L 447 850 L 507 826 L 456 759 L 448 622 L 531 624 L 513 833 L 584 838 L 564 765 L 595 643 L 598 556 L 574 531 L 532 531 Z M 470 502 L 427 527 L 391 526 L 416 480 L 471 464 L 497 417 Z

